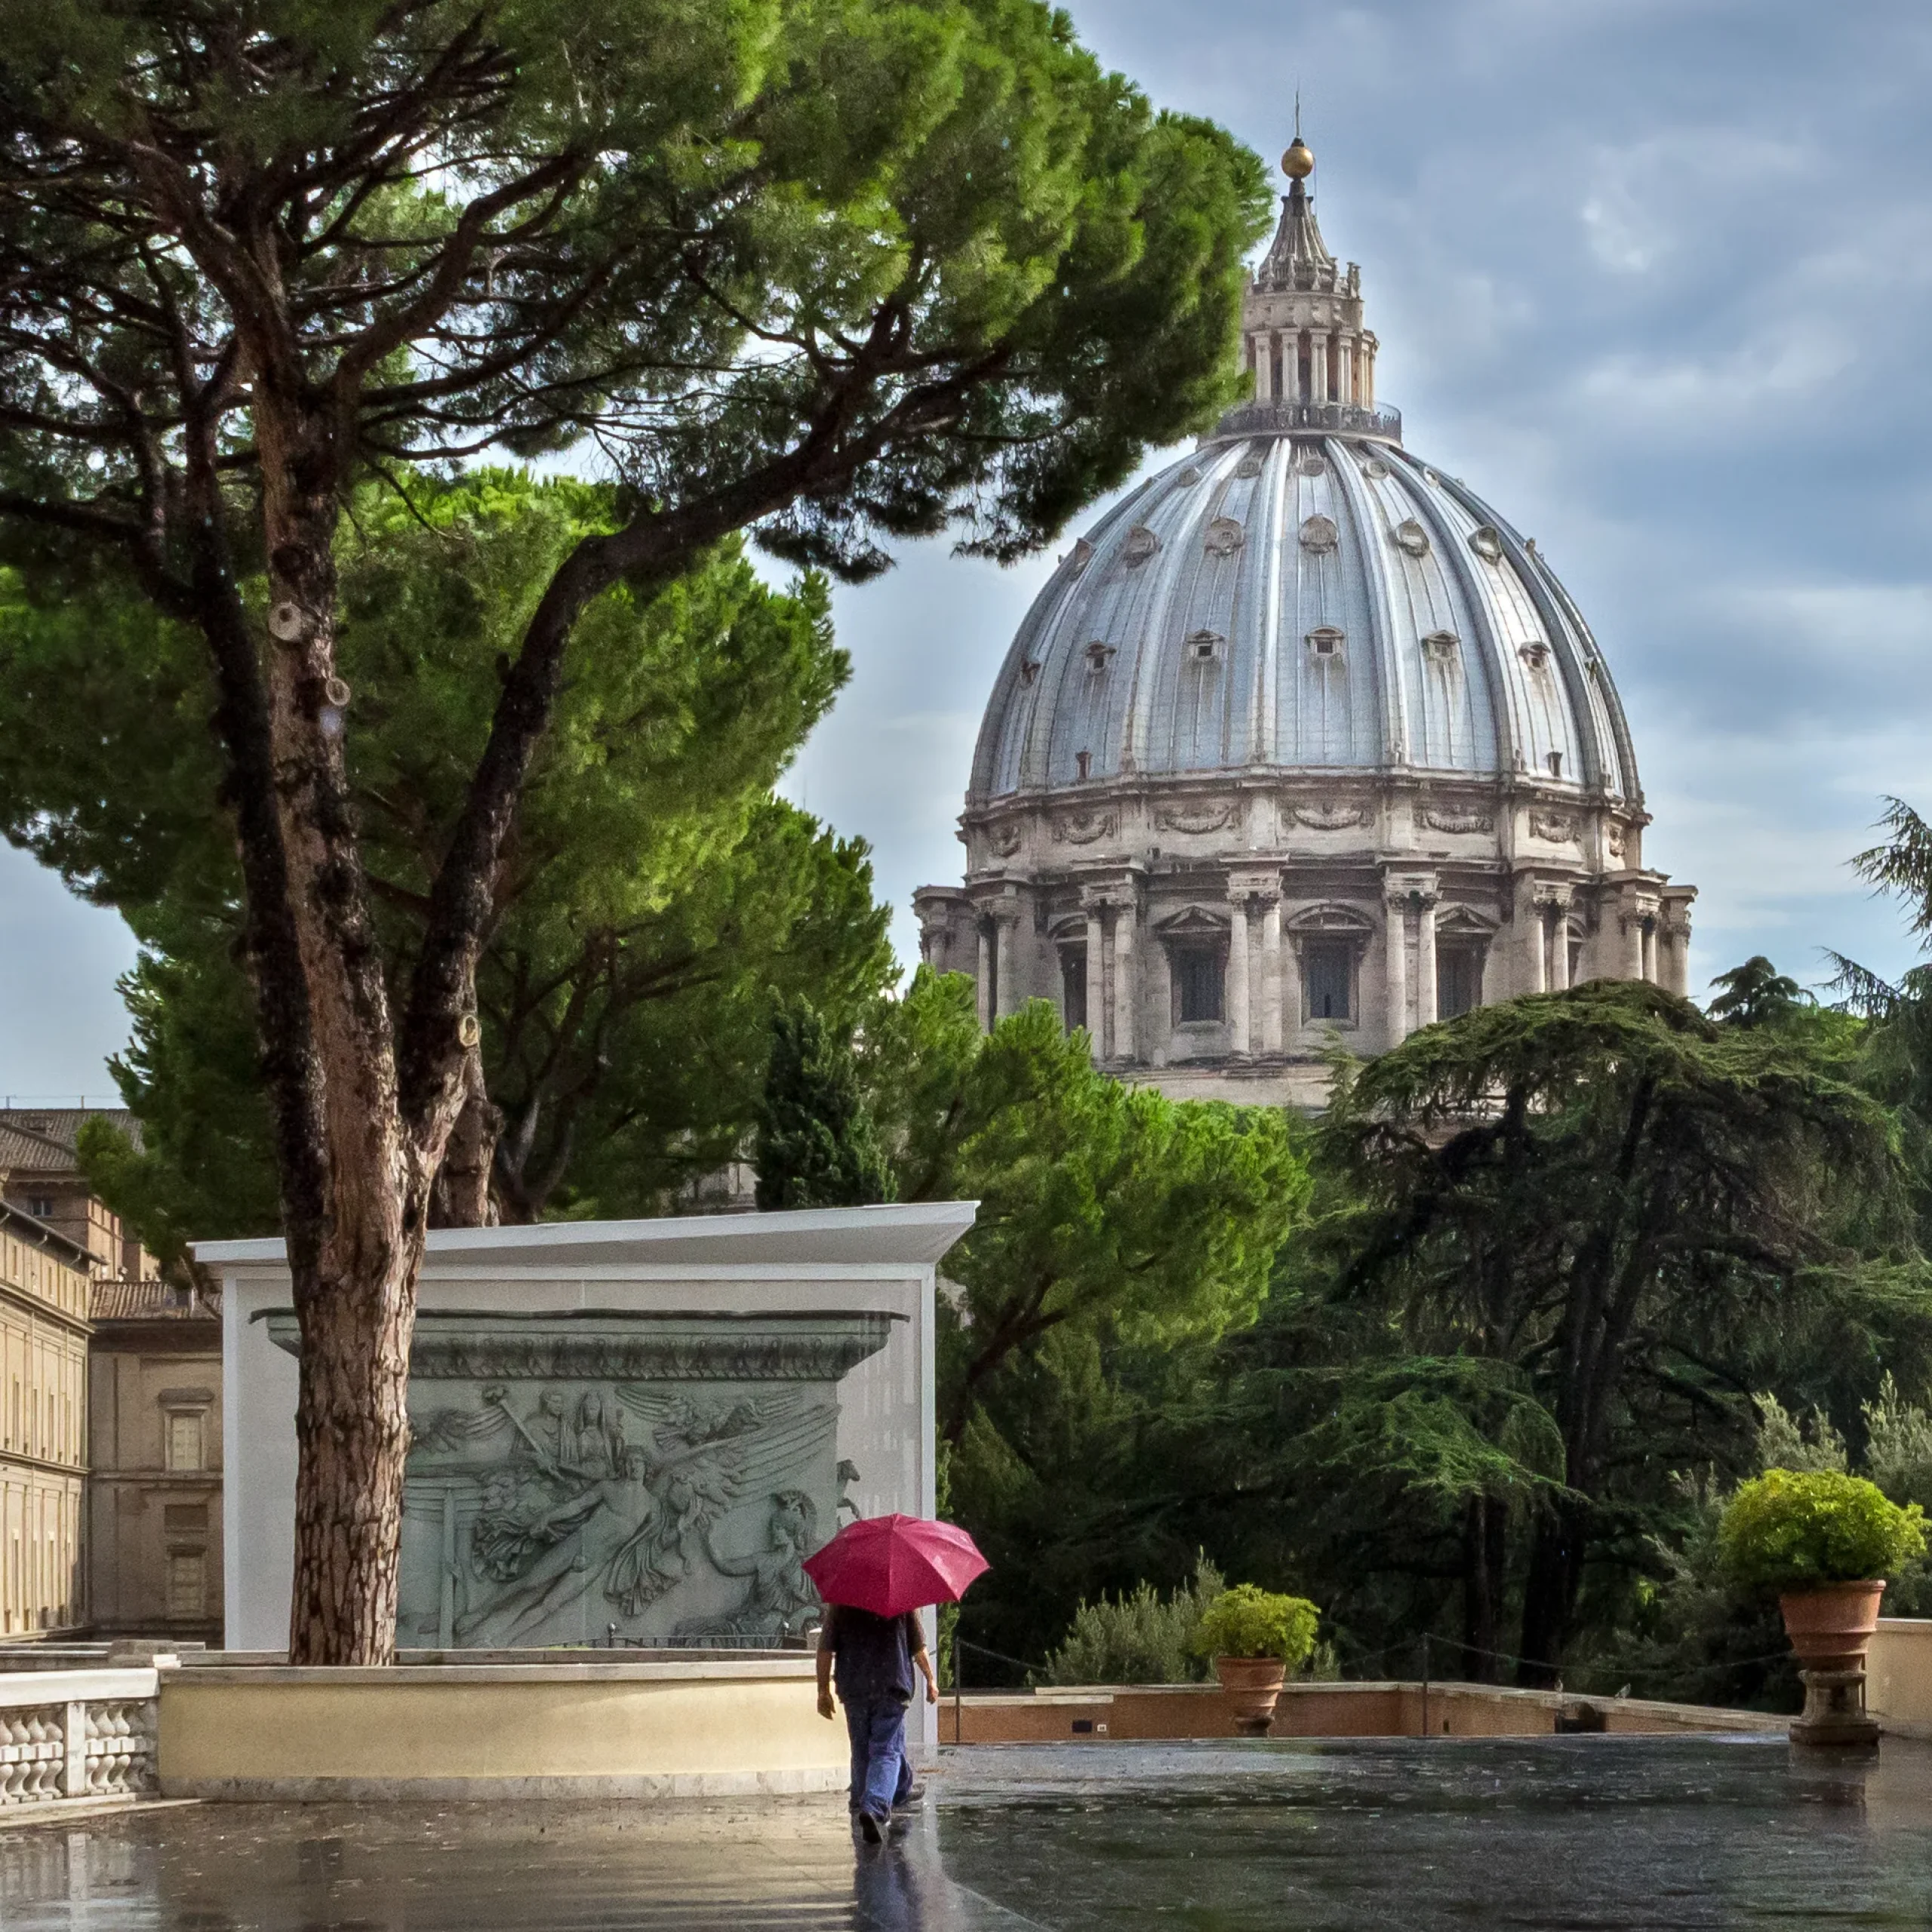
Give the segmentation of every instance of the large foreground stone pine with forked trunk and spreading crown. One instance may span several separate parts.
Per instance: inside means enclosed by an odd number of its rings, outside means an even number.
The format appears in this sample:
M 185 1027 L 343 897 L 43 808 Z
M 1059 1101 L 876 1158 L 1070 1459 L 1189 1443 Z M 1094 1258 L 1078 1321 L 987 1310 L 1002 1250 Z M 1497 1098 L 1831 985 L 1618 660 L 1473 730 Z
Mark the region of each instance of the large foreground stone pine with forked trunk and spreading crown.
M 753 529 L 1043 543 L 1236 394 L 1260 162 L 1030 0 L 0 0 L 0 537 L 207 647 L 301 1331 L 298 1663 L 394 1654 L 415 1277 L 578 616 Z M 388 983 L 354 487 L 589 444 Z M 251 576 L 265 593 L 245 595 Z

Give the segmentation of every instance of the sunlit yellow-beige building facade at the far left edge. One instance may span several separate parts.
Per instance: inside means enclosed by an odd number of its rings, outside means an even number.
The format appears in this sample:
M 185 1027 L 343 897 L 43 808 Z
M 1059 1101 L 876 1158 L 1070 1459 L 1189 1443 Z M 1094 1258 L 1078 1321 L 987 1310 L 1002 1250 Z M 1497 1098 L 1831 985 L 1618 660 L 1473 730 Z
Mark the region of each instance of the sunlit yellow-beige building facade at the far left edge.
M 87 1623 L 87 1267 L 0 1204 L 0 1636 Z

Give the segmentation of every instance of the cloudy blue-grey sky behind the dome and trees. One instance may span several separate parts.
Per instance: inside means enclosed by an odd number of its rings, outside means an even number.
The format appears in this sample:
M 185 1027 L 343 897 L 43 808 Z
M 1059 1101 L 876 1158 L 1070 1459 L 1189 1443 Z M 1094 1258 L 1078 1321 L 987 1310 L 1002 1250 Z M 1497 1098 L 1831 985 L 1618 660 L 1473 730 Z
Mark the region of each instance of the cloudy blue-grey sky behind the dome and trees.
M 1932 806 L 1932 10 L 1913 0 L 1086 0 L 1103 60 L 1264 155 L 1293 95 L 1408 446 L 1538 539 L 1636 734 L 1694 980 L 1837 947 L 1880 794 Z M 856 676 L 788 790 L 900 908 L 958 875 L 993 672 L 1051 558 L 840 593 Z M 102 1092 L 126 937 L 0 854 L 0 1088 Z

